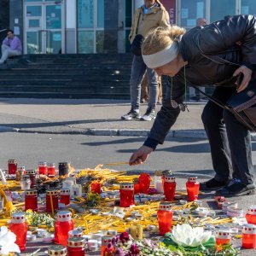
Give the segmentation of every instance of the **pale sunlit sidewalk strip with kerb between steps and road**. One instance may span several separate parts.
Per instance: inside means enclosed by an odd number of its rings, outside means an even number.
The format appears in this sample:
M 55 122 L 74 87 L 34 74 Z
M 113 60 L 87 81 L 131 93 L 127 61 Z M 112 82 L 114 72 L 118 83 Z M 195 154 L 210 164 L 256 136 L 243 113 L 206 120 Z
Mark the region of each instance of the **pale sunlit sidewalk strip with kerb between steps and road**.
M 206 138 L 201 123 L 205 103 L 190 103 L 180 113 L 168 137 Z M 0 98 L 0 132 L 146 137 L 153 121 L 121 120 L 129 101 Z M 147 105 L 141 106 L 145 113 Z M 158 109 L 160 110 L 160 105 Z

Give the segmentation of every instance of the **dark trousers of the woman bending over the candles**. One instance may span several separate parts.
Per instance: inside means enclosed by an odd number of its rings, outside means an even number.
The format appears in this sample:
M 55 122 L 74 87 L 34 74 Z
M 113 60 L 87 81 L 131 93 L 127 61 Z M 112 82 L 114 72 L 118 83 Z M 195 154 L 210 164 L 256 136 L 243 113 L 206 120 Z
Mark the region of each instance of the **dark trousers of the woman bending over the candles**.
M 217 87 L 212 96 L 225 103 L 235 90 Z M 201 119 L 211 147 L 215 179 L 239 178 L 241 183 L 253 183 L 252 143 L 247 128 L 230 111 L 211 101 L 207 102 Z

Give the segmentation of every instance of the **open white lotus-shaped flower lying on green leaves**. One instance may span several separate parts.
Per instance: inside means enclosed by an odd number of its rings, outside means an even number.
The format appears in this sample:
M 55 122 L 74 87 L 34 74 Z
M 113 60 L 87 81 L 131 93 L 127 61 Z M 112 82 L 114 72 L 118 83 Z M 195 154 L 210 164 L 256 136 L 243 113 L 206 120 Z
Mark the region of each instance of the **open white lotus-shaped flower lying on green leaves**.
M 172 240 L 183 247 L 198 247 L 207 242 L 212 236 L 211 231 L 204 231 L 203 228 L 192 228 L 189 224 L 177 224 L 172 229 Z

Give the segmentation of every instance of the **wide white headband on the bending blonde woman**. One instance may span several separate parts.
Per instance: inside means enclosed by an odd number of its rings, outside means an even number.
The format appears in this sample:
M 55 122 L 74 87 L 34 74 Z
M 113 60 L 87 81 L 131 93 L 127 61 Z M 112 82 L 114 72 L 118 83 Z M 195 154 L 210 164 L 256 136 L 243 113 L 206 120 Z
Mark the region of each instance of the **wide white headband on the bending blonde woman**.
M 143 55 L 143 61 L 149 68 L 154 69 L 173 61 L 177 53 L 177 43 L 173 43 L 153 55 Z

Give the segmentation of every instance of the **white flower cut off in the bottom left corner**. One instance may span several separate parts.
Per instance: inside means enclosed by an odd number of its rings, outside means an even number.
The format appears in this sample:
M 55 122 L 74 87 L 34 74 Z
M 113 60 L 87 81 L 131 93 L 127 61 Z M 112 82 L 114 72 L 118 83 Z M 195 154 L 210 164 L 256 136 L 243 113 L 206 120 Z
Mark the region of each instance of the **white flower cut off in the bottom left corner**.
M 20 253 L 20 248 L 15 244 L 16 235 L 9 231 L 7 227 L 0 228 L 0 247 L 1 255 L 9 255 L 9 253 Z

